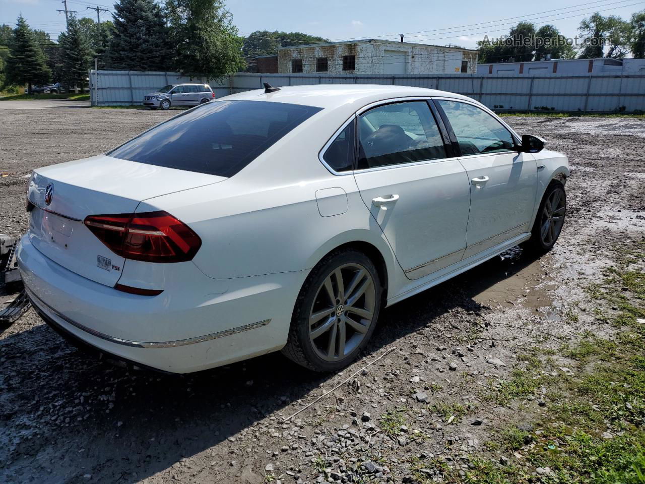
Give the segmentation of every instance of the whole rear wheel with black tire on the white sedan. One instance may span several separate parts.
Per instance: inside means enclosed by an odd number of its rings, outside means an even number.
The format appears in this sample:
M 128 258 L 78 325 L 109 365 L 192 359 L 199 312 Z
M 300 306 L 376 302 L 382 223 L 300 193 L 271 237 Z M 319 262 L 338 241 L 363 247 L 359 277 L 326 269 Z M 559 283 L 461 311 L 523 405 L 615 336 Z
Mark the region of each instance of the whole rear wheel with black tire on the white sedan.
M 283 354 L 317 372 L 346 367 L 372 337 L 381 294 L 369 257 L 353 249 L 332 252 L 304 282 Z

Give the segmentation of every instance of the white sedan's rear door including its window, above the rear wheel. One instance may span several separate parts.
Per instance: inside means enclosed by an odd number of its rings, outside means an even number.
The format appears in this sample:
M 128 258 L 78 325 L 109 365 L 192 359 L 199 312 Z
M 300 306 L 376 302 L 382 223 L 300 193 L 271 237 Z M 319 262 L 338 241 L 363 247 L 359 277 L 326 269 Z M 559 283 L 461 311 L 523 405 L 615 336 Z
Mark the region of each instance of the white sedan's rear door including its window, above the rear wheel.
M 357 186 L 406 276 L 461 259 L 470 187 L 428 101 L 379 105 L 358 117 Z

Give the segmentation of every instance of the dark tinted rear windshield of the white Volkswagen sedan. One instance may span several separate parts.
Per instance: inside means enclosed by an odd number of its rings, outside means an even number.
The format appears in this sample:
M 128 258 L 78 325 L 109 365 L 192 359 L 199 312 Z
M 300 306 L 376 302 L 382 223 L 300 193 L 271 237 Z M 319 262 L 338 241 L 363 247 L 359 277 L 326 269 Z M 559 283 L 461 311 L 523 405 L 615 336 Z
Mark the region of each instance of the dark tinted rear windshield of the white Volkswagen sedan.
M 213 101 L 141 133 L 107 155 L 231 177 L 321 109 L 266 101 Z

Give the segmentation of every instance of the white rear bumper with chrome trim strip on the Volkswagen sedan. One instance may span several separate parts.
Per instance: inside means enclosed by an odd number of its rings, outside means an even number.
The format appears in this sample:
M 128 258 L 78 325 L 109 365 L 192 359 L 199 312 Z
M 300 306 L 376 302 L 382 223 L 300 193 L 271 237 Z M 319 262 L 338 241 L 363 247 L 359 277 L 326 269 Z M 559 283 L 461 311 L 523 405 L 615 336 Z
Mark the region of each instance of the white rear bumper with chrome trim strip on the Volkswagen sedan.
M 38 252 L 27 237 L 17 259 L 25 290 L 49 325 L 117 359 L 173 373 L 279 350 L 304 280 L 297 272 L 223 282 L 197 277 L 195 267 L 186 281 L 150 297 L 78 276 Z

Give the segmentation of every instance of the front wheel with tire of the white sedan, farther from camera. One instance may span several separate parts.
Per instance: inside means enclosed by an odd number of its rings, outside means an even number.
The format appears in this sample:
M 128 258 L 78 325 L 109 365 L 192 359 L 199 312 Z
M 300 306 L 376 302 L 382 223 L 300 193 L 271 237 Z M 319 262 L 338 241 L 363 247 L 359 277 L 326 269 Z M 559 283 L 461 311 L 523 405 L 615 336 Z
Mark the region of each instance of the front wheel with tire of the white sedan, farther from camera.
M 535 255 L 546 254 L 555 245 L 566 216 L 566 192 L 561 181 L 554 180 L 546 188 L 535 216 L 531 238 L 524 249 Z

